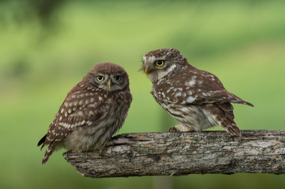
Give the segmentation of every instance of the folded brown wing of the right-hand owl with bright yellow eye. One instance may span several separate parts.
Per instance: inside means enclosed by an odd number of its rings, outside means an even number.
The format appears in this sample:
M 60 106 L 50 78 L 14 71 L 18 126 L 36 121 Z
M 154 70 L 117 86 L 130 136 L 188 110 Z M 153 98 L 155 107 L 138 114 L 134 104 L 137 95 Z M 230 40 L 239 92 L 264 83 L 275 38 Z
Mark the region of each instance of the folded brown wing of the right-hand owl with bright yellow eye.
M 170 103 L 242 103 L 253 106 L 227 91 L 217 76 L 198 69 L 185 69 L 155 86 L 152 94 Z

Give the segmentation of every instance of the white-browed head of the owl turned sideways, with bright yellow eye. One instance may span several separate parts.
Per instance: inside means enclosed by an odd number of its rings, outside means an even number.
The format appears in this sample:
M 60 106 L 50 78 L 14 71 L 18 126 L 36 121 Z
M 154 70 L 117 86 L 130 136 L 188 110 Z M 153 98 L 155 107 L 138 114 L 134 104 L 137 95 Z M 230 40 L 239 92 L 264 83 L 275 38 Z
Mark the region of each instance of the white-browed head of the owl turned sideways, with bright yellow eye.
M 187 60 L 177 49 L 162 48 L 147 53 L 142 57 L 142 63 L 140 71 L 145 71 L 150 81 L 157 83 L 167 75 L 174 76 Z

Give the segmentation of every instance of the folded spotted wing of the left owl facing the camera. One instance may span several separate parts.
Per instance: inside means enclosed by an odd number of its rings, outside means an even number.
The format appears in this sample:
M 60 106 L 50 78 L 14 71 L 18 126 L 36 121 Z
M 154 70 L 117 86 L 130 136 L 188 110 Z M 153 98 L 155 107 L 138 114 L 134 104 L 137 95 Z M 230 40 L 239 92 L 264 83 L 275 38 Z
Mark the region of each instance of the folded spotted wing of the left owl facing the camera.
M 42 144 L 41 149 L 43 146 L 49 145 L 43 156 L 43 165 L 53 153 L 53 146 L 56 143 L 63 140 L 75 128 L 90 126 L 102 115 L 100 109 L 102 109 L 106 97 L 107 95 L 100 88 L 88 91 L 78 85 L 68 93 L 53 122 L 48 127 L 48 133 L 38 142 L 38 146 Z

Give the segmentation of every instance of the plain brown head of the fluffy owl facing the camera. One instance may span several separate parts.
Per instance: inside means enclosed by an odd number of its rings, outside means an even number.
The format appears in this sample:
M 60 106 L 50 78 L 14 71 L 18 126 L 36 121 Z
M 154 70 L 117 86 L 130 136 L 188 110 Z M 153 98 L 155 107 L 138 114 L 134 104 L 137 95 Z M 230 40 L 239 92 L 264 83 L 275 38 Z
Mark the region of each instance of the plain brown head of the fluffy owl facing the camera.
M 83 78 L 90 87 L 102 88 L 105 91 L 118 91 L 129 86 L 128 73 L 115 63 L 98 63 Z

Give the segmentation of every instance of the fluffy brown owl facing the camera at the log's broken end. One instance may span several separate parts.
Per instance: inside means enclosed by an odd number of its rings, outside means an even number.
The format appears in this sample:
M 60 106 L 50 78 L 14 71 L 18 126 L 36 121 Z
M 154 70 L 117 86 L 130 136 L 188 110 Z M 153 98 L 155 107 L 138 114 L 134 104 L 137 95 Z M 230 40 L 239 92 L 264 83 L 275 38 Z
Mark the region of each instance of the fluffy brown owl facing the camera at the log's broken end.
M 100 150 L 123 125 L 132 95 L 127 72 L 115 63 L 98 63 L 74 86 L 38 146 L 48 145 L 45 165 L 54 150 Z

